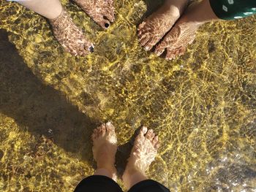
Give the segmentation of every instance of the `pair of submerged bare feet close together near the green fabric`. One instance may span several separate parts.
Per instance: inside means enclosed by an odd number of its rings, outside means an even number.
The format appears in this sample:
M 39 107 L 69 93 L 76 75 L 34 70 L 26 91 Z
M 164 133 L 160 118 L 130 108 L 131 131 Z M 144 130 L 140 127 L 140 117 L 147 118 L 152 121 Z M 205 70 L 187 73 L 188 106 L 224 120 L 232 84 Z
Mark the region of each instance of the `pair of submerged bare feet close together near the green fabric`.
M 195 39 L 195 33 L 200 26 L 189 22 L 187 8 L 189 0 L 166 0 L 165 4 L 154 12 L 138 27 L 140 44 L 146 50 L 164 55 L 168 60 L 183 55 L 187 45 Z M 163 54 L 164 53 L 164 54 Z

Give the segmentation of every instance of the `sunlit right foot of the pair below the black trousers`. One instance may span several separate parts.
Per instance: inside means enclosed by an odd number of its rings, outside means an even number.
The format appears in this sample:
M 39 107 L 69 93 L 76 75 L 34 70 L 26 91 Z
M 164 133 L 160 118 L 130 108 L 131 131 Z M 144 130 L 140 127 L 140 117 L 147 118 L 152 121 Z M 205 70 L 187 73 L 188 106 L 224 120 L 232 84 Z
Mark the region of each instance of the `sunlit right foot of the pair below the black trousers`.
M 143 126 L 135 139 L 123 178 L 127 177 L 127 174 L 132 175 L 135 172 L 145 175 L 157 155 L 158 148 L 158 137 L 155 137 L 154 131 Z

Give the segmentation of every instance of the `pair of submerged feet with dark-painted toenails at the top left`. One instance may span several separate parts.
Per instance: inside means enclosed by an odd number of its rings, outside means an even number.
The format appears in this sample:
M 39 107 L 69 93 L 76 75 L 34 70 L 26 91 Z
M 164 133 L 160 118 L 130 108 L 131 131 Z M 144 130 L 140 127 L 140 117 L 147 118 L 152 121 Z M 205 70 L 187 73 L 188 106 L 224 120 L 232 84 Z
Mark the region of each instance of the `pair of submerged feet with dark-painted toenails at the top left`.
M 113 0 L 72 0 L 83 9 L 96 23 L 104 29 L 115 20 Z M 61 14 L 49 19 L 53 34 L 64 49 L 72 55 L 85 56 L 94 52 L 94 45 L 83 31 L 73 23 L 67 11 L 62 8 Z

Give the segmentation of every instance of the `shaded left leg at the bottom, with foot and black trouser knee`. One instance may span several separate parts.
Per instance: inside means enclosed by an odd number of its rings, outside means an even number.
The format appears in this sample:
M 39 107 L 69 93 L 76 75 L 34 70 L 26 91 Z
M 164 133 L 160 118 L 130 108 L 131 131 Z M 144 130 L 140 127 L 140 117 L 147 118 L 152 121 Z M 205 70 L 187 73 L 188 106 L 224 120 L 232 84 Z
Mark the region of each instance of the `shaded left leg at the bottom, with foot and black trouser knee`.
M 122 192 L 116 180 L 116 133 L 111 123 L 102 124 L 94 129 L 91 136 L 94 145 L 92 151 L 97 162 L 94 175 L 86 177 L 75 188 L 75 192 Z

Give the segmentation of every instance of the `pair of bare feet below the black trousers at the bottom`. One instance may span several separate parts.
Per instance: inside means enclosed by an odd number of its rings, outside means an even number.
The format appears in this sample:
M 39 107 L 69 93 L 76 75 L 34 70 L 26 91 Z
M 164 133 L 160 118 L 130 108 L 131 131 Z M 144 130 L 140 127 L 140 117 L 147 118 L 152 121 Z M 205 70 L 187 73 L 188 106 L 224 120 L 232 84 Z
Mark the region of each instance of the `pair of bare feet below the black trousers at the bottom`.
M 108 122 L 94 129 L 92 134 L 94 142 L 93 154 L 97 161 L 95 174 L 105 175 L 116 180 L 115 158 L 117 150 L 117 139 L 115 127 Z M 123 174 L 124 185 L 127 189 L 136 183 L 146 180 L 146 171 L 154 161 L 159 148 L 158 137 L 154 131 L 144 127 L 135 139 L 126 169 Z

